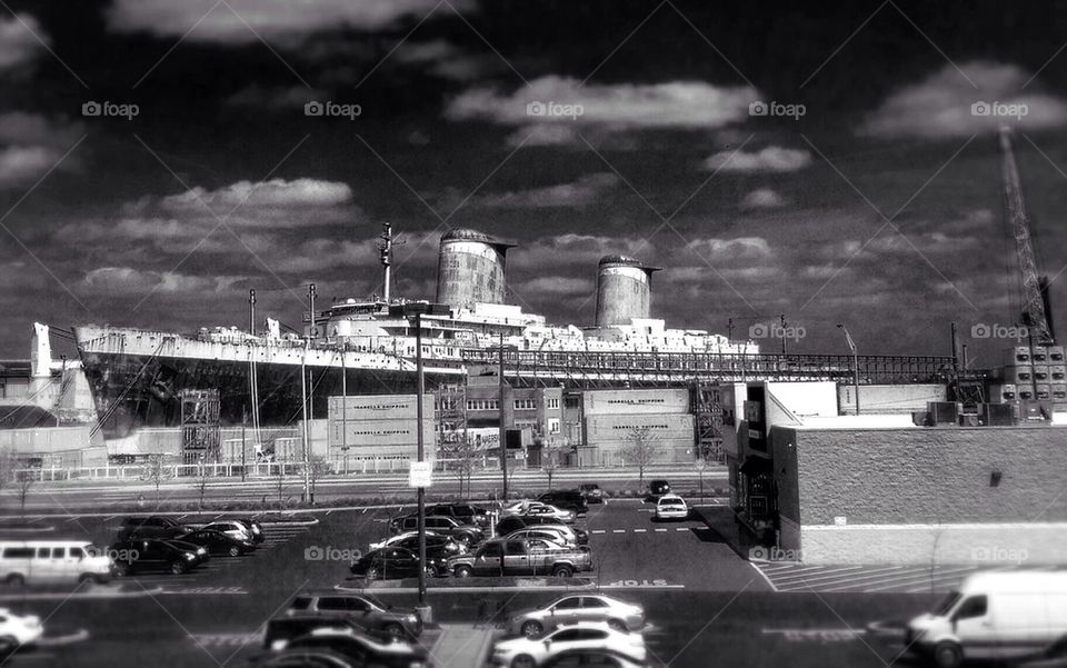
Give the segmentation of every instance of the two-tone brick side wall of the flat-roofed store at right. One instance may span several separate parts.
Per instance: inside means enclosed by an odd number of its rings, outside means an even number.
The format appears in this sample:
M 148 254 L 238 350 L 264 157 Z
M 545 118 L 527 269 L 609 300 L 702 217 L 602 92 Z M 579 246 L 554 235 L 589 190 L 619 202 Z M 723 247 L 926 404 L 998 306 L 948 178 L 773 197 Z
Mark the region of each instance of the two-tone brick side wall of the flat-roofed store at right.
M 776 427 L 770 442 L 781 547 L 806 562 L 980 561 L 1011 548 L 1067 560 L 1067 429 Z

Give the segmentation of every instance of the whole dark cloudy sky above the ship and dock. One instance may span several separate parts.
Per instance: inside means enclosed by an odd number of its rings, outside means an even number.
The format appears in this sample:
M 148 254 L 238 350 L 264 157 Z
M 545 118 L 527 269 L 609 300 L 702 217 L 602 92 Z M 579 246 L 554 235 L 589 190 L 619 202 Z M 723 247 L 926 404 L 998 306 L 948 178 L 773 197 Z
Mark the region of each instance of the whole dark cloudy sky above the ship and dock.
M 473 227 L 558 323 L 622 252 L 677 327 L 946 353 L 956 320 L 993 363 L 971 327 L 1021 297 L 1001 123 L 1067 331 L 1067 6 L 839 4 L 6 0 L 0 356 L 33 320 L 243 326 L 249 288 L 296 326 L 310 281 L 380 290 L 391 221 L 405 297 Z

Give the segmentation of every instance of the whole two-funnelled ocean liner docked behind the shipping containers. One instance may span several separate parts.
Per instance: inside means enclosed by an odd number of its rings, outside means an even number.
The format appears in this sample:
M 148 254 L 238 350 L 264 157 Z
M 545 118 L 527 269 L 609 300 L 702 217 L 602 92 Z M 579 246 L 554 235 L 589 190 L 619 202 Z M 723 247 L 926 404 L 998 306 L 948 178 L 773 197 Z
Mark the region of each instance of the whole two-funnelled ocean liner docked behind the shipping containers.
M 420 318 L 427 389 L 463 382 L 472 365 L 495 347 L 555 353 L 737 356 L 758 352 L 751 341 L 731 342 L 704 330 L 667 329 L 649 317 L 657 270 L 625 256 L 598 268 L 596 327 L 554 326 L 544 316 L 506 303 L 506 257 L 513 243 L 456 229 L 440 240 L 435 315 Z M 139 427 L 177 426 L 185 389 L 219 391 L 220 421 L 292 425 L 301 417 L 301 370 L 308 375 L 309 410 L 326 417 L 327 399 L 348 395 L 416 391 L 416 317 L 410 301 L 391 299 L 392 231 L 379 240 L 385 295 L 348 299 L 303 316 L 303 331 L 283 332 L 275 319 L 265 331 L 202 328 L 198 333 L 86 325 L 74 339 L 109 438 Z M 423 302 L 426 303 L 426 302 Z M 255 293 L 250 299 L 255 309 Z M 255 322 L 252 316 L 250 322 Z M 618 385 L 626 373 L 616 375 Z M 559 385 L 565 378 L 552 379 Z

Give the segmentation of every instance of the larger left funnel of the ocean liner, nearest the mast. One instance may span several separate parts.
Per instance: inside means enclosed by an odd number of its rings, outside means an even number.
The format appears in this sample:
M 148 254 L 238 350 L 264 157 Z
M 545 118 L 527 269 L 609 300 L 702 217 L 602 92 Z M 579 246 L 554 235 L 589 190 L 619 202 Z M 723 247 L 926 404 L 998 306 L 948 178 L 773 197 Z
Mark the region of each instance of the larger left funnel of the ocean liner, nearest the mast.
M 445 232 L 437 265 L 437 302 L 471 308 L 505 303 L 505 253 L 515 243 L 477 230 Z

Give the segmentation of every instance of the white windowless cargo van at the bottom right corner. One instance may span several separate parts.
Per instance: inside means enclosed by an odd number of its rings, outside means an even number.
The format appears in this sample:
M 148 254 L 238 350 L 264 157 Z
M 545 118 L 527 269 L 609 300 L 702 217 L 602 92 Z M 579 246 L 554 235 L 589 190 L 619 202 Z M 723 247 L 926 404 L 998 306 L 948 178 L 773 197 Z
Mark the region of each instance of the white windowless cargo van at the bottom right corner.
M 908 622 L 905 642 L 955 668 L 971 659 L 1037 656 L 1067 639 L 1067 571 L 975 574 L 933 612 Z

